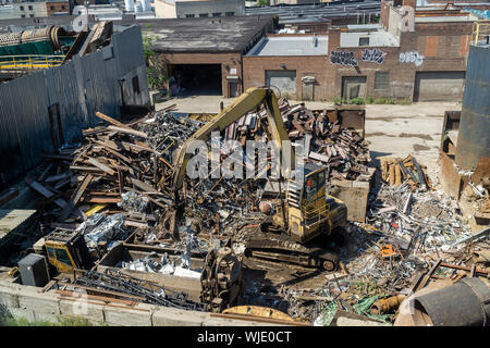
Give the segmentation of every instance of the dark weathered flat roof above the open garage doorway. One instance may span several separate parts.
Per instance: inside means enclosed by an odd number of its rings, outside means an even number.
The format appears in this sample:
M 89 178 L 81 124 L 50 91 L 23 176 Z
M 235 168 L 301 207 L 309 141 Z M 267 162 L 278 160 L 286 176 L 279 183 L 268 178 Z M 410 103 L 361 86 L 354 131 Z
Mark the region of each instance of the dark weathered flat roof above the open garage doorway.
M 243 52 L 272 25 L 272 16 L 160 20 L 142 25 L 158 52 Z

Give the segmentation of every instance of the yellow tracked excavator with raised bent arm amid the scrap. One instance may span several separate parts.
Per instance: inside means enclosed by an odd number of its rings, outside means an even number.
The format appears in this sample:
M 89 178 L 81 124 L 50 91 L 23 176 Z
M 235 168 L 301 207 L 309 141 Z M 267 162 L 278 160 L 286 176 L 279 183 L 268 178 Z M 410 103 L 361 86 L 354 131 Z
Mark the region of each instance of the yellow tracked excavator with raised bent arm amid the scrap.
M 284 141 L 290 141 L 275 94 L 270 88 L 247 89 L 183 144 L 176 157 L 173 174 L 176 201 L 191 156 L 186 149 L 192 141 L 208 139 L 211 132 L 224 130 L 247 112 L 258 111 L 262 104 L 267 112 L 268 125 L 264 130 L 269 140 L 275 140 L 281 149 Z M 332 235 L 336 227 L 343 226 L 346 222 L 347 208 L 341 200 L 327 195 L 326 166 L 306 163 L 304 179 L 296 181 L 292 177 L 294 150 L 291 151 L 291 157 L 292 169 L 286 171 L 283 177 L 286 183 L 285 199 L 281 197 L 281 204 L 275 209 L 275 214 L 261 224 L 262 232 L 266 233 L 247 243 L 245 257 L 333 271 L 338 266 L 338 256 L 327 251 L 324 246 L 310 241 L 320 235 Z

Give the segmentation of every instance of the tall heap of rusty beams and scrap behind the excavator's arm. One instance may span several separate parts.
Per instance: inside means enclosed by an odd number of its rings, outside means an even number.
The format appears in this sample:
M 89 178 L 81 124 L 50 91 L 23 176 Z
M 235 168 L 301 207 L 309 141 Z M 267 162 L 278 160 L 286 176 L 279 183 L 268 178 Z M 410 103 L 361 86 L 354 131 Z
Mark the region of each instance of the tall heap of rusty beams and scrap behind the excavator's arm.
M 362 136 L 341 125 L 336 110 L 310 111 L 304 104 L 280 105 L 292 140 L 306 139 L 308 161 L 328 164 L 333 177 L 355 178 L 367 172 L 369 154 Z M 26 182 L 45 197 L 42 221 L 47 227 L 76 228 L 88 216 L 121 214 L 122 227 L 137 229 L 137 243 L 186 248 L 197 236 L 195 252 L 223 246 L 237 226 L 264 219 L 258 210 L 266 181 L 185 178 L 182 216 L 175 219 L 173 201 L 174 159 L 182 144 L 203 122 L 168 110 L 122 123 L 102 113 L 109 125 L 83 130 L 81 145 L 44 154 L 50 163 Z M 242 116 L 221 132 L 226 139 L 266 137 L 266 111 Z M 221 148 L 221 158 L 229 153 Z

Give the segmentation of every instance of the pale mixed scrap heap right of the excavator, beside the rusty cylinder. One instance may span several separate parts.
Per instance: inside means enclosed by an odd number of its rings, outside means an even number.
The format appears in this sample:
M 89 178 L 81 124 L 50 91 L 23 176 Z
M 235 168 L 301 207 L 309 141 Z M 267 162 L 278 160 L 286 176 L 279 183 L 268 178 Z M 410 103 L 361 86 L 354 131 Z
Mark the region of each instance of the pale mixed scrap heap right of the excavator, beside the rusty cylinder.
M 415 158 L 408 159 L 401 162 L 416 171 L 406 164 L 416 163 Z M 329 325 L 336 312 L 347 311 L 397 325 L 406 320 L 399 308 L 403 300 L 429 285 L 488 279 L 490 228 L 473 233 L 452 197 L 429 185 L 424 188 L 420 182 L 413 185 L 412 179 L 400 186 L 378 181 L 369 195 L 366 223 L 348 223 L 345 228 L 341 271 L 329 274 L 318 288 L 282 289 L 290 315 Z

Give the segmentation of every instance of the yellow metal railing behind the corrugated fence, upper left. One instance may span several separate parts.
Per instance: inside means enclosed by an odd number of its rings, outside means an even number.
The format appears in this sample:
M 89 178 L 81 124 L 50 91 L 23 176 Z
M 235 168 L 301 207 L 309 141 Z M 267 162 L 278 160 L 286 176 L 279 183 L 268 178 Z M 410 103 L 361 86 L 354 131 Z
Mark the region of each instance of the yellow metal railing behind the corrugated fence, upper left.
M 64 55 L 0 55 L 0 70 L 49 69 L 63 63 Z

